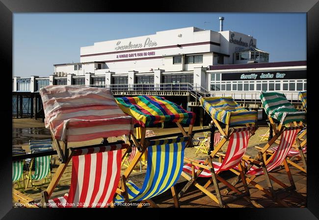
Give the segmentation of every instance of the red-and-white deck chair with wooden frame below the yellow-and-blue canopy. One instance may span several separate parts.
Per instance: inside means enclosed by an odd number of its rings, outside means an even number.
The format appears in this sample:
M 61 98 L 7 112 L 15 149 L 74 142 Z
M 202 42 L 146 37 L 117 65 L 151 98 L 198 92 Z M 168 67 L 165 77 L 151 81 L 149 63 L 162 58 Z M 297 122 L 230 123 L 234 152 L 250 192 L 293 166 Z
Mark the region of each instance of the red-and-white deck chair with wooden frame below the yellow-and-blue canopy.
M 254 134 L 257 127 L 242 127 L 242 128 L 231 128 L 229 137 L 227 138 L 229 140 L 228 147 L 225 154 L 219 153 L 218 151 L 221 149 L 222 145 L 218 145 L 215 147 L 213 152 L 208 156 L 208 158 L 204 160 L 193 160 L 189 158 L 185 158 L 184 160 L 188 162 L 183 167 L 182 176 L 188 180 L 188 183 L 185 185 L 185 187 L 182 189 L 178 197 L 180 198 L 183 196 L 186 191 L 194 185 L 199 190 L 201 190 L 203 193 L 205 193 L 207 196 L 213 199 L 216 203 L 219 204 L 220 207 L 226 207 L 226 204 L 231 203 L 232 201 L 244 197 L 247 201 L 252 202 L 256 207 L 261 207 L 258 203 L 251 200 L 249 196 L 249 190 L 248 186 L 246 184 L 246 179 L 244 178 L 244 170 L 242 167 L 241 160 L 245 156 L 244 153 L 246 151 L 246 148 L 248 146 L 248 141 L 251 135 Z M 222 139 L 221 142 L 226 142 L 226 139 Z M 214 156 L 220 156 L 223 157 L 223 160 L 220 162 L 214 162 L 213 157 Z M 237 172 L 241 176 L 241 180 L 244 186 L 244 191 L 241 192 L 236 187 L 232 186 L 229 182 L 227 182 L 225 179 L 220 177 L 219 173 L 222 171 L 228 171 L 233 170 L 235 167 L 239 167 L 239 172 Z M 187 173 L 191 174 L 189 176 Z M 208 177 L 209 180 L 204 186 L 201 186 L 196 179 L 198 177 Z M 238 196 L 234 196 L 230 199 L 223 200 L 220 194 L 220 189 L 217 183 L 217 180 L 234 190 Z M 207 190 L 207 188 L 213 183 L 215 194 Z

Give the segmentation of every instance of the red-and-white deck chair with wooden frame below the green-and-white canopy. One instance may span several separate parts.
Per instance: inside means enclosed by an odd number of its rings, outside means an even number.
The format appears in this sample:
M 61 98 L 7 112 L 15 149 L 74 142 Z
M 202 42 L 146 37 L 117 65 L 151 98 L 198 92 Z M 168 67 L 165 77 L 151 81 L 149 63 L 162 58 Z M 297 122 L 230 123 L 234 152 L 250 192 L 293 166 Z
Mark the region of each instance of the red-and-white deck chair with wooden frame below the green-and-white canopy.
M 295 185 L 294 185 L 286 158 L 289 151 L 292 148 L 294 140 L 296 139 L 297 133 L 301 130 L 301 128 L 302 126 L 281 127 L 281 129 L 279 130 L 279 133 L 281 136 L 279 146 L 267 160 L 264 160 L 264 158 L 266 158 L 264 155 L 266 154 L 266 151 L 268 150 L 268 148 L 277 139 L 276 135 L 259 152 L 258 161 L 243 158 L 246 161 L 246 163 L 249 164 L 247 166 L 247 172 L 245 173 L 247 183 L 254 185 L 257 189 L 263 191 L 267 196 L 270 196 L 279 204 L 283 206 L 287 206 L 287 207 L 288 207 L 288 204 L 276 196 L 271 180 L 273 180 L 275 183 L 279 184 L 281 187 L 285 188 L 286 190 L 289 190 L 289 189 L 295 190 Z M 288 178 L 291 183 L 290 187 L 288 187 L 286 184 L 284 184 L 283 182 L 281 182 L 280 180 L 278 180 L 277 178 L 269 174 L 270 171 L 275 170 L 282 164 L 285 166 L 285 170 L 287 171 Z M 265 176 L 265 179 L 268 185 L 268 190 L 266 190 L 263 186 L 253 181 L 257 175 L 261 175 L 261 174 L 264 174 Z M 247 177 L 247 175 L 249 175 L 250 177 Z

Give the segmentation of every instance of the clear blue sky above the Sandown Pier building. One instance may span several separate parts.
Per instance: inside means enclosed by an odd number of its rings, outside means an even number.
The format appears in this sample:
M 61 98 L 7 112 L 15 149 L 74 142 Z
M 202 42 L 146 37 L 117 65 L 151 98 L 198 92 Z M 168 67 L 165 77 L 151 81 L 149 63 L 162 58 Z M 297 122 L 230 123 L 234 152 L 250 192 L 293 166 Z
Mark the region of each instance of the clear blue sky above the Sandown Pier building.
M 94 42 L 195 26 L 257 39 L 269 62 L 306 60 L 306 13 L 14 13 L 13 76 L 48 76 L 53 64 L 80 62 Z

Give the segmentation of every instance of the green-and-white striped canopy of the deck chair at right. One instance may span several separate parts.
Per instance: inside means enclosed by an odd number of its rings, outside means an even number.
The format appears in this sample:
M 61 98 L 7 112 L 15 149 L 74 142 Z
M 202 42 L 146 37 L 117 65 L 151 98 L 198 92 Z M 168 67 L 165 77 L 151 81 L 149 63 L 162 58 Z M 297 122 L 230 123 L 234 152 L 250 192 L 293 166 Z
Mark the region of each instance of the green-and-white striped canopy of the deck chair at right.
M 260 99 L 270 122 L 272 118 L 284 125 L 290 122 L 304 122 L 306 119 L 307 113 L 295 109 L 282 93 L 261 91 Z

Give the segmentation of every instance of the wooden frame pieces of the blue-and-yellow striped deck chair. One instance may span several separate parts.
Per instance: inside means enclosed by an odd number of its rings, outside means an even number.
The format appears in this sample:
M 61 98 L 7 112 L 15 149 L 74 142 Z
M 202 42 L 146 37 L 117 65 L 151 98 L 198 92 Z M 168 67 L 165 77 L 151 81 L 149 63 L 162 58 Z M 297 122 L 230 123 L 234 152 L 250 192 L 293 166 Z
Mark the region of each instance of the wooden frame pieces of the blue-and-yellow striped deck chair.
M 188 137 L 189 140 L 191 140 L 191 133 L 192 133 L 193 125 L 190 124 L 189 127 L 188 127 L 188 131 L 186 132 L 184 127 L 181 125 L 181 123 L 179 123 L 179 122 L 175 122 L 175 123 L 177 124 L 177 126 L 181 130 L 183 136 L 184 137 Z M 146 129 L 147 129 L 146 127 L 141 127 L 141 138 L 140 138 L 140 141 L 138 141 L 136 139 L 134 134 L 131 134 L 131 139 L 132 139 L 133 143 L 135 144 L 135 146 L 137 147 L 138 151 L 136 152 L 136 155 L 133 158 L 132 162 L 130 163 L 129 167 L 124 172 L 123 176 L 124 176 L 125 179 L 128 179 L 128 177 L 133 172 L 134 167 L 136 166 L 138 161 L 140 161 L 142 155 L 147 151 L 148 141 L 145 138 Z M 190 142 L 189 140 L 188 140 L 188 143 Z M 118 192 L 116 192 L 116 193 L 121 195 L 121 196 L 124 196 L 126 198 L 125 201 L 128 202 L 129 201 L 128 200 L 128 195 L 125 193 L 126 190 L 123 187 L 126 188 L 126 185 L 123 186 L 123 185 L 119 184 L 119 188 L 123 191 L 123 193 L 118 193 Z M 172 192 L 172 196 L 173 196 L 173 199 L 174 199 L 175 207 L 179 207 L 179 201 L 178 201 L 178 198 L 177 198 L 177 192 L 176 192 L 175 186 L 173 186 L 171 188 L 171 192 Z M 145 202 L 148 202 L 151 205 L 151 207 L 154 207 L 154 208 L 158 208 L 159 207 L 152 199 L 147 199 L 147 200 L 141 201 L 137 207 L 142 207 L 142 203 L 145 203 Z

